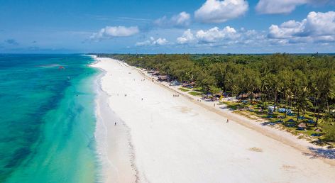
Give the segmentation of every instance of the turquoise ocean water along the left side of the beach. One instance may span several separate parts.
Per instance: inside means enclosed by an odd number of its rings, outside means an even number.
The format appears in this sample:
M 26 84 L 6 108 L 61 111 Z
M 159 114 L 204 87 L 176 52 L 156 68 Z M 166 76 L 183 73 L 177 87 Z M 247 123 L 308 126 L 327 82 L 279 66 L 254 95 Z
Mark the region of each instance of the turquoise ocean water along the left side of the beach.
M 85 55 L 0 55 L 0 182 L 99 182 Z

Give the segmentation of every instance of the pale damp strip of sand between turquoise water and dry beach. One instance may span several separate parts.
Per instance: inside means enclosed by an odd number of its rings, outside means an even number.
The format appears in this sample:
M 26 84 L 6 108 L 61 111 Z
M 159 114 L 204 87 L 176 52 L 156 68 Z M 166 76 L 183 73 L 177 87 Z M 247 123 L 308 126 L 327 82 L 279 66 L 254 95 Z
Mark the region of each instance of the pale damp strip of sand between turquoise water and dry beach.
M 99 63 L 96 57 L 94 59 L 96 62 L 91 67 Z M 97 126 L 94 137 L 97 140 L 101 178 L 103 182 L 137 182 L 129 129 L 116 113 L 111 111 L 109 104 L 105 104 L 109 95 L 101 88 L 101 79 L 106 77 L 106 71 L 99 67 L 96 68 L 101 70 L 101 74 L 95 81 Z M 114 128 L 112 121 L 117 121 L 118 128 Z

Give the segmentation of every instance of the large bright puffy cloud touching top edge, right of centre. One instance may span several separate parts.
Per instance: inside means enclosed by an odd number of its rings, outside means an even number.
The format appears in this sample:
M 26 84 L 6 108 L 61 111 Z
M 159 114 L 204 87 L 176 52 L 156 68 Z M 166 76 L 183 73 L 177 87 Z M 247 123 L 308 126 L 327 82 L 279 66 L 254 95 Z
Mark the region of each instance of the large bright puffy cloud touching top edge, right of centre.
M 242 16 L 248 11 L 248 2 L 244 0 L 207 0 L 194 17 L 202 23 L 222 23 Z

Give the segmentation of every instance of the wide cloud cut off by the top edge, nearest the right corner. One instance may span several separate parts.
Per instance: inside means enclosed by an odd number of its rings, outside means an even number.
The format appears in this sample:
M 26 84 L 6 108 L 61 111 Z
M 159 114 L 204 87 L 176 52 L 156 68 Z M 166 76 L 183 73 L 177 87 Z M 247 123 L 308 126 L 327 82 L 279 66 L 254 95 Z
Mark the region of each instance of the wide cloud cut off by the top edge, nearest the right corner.
M 303 4 L 320 5 L 328 1 L 329 0 L 260 0 L 256 5 L 256 11 L 264 14 L 291 13 L 297 6 Z

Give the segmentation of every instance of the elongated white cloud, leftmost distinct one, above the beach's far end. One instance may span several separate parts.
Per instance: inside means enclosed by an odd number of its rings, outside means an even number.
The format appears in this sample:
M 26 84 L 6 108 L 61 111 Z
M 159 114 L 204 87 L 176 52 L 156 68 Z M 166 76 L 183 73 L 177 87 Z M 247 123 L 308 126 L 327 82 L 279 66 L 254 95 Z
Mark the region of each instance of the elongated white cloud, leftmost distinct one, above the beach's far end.
M 128 37 L 131 35 L 135 35 L 139 33 L 138 27 L 125 27 L 125 26 L 106 26 L 105 28 L 101 28 L 98 33 L 93 33 L 90 36 L 91 40 L 102 40 L 109 39 L 114 37 Z

